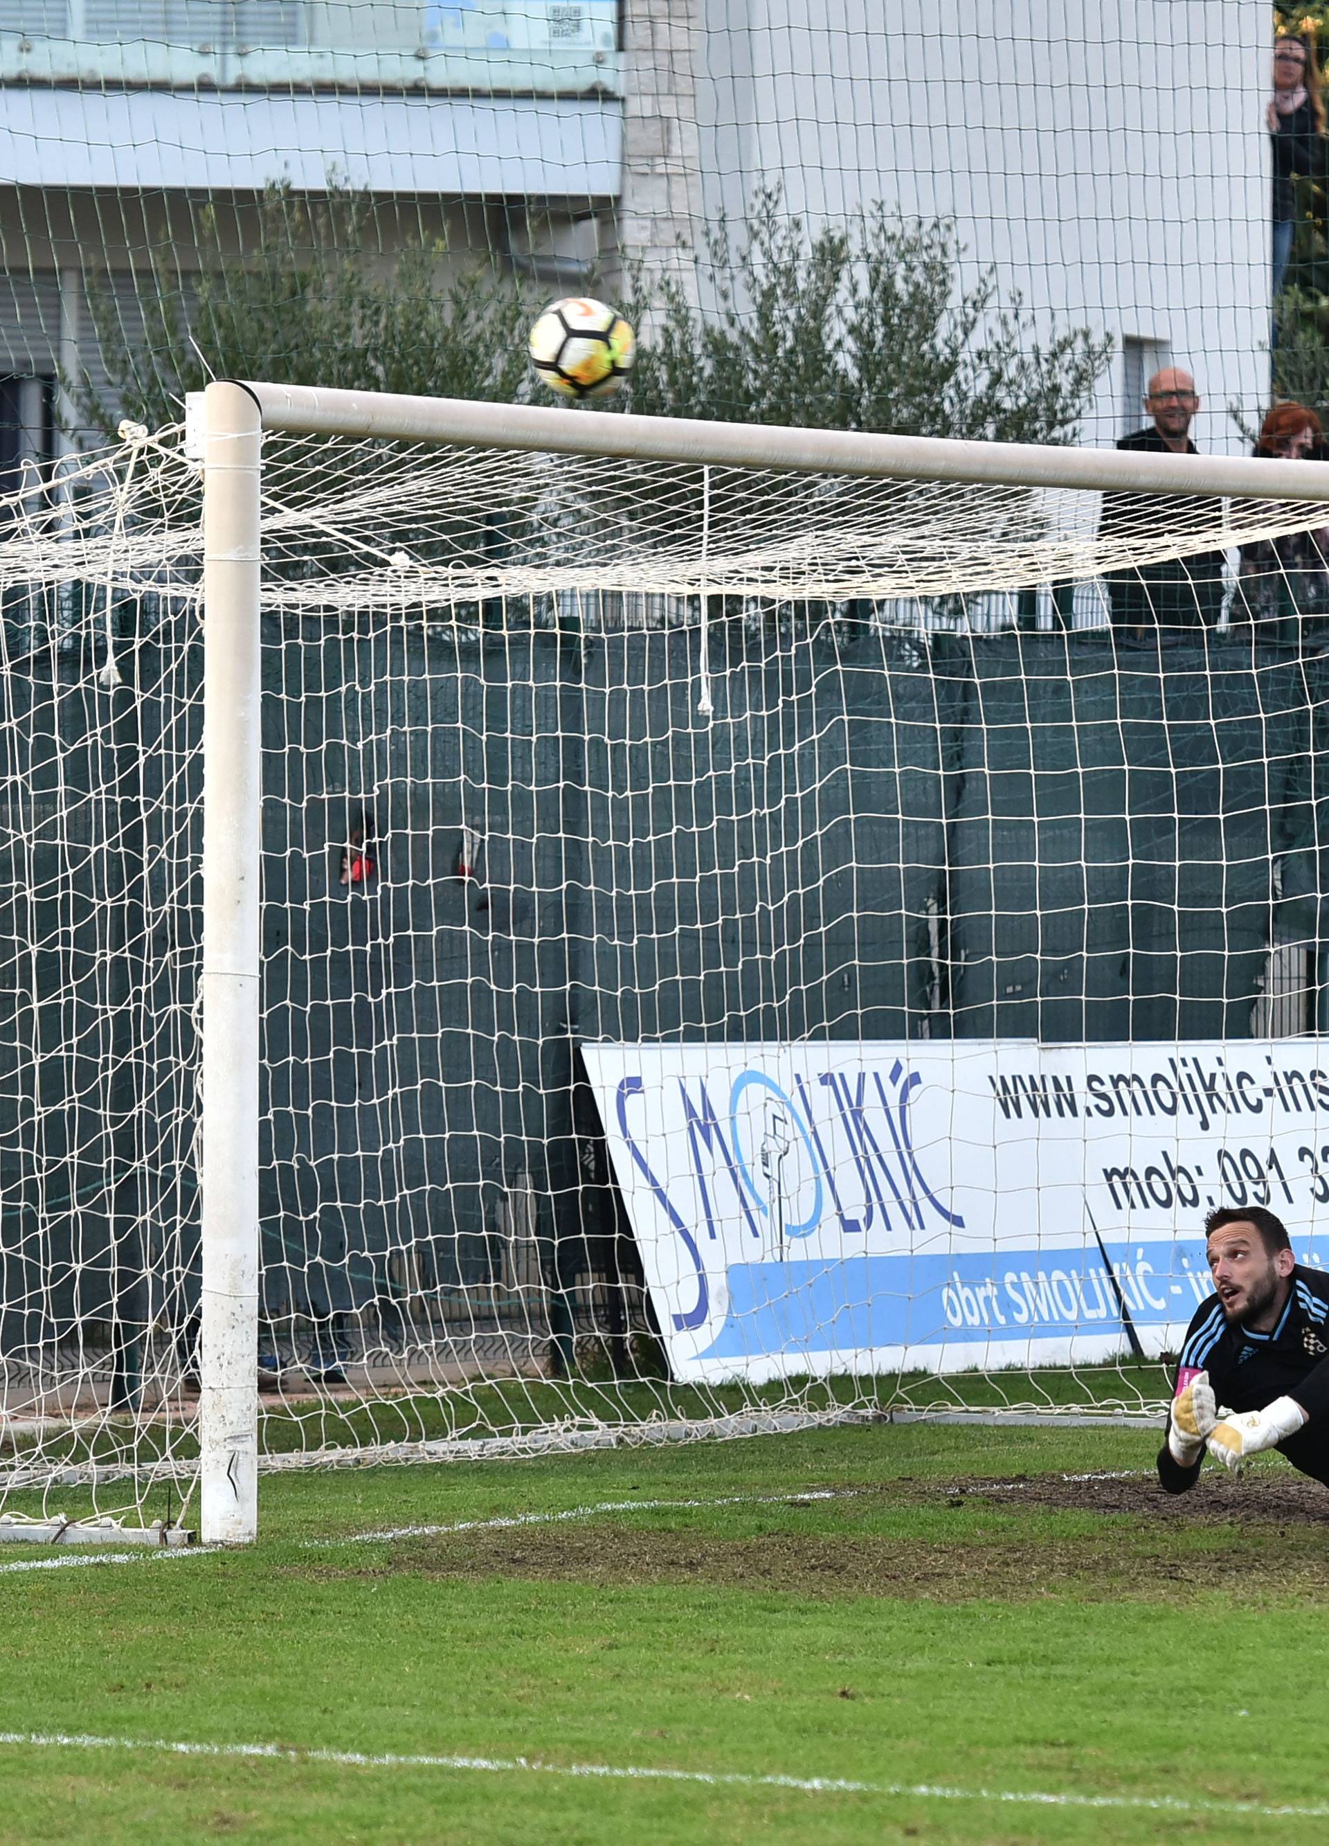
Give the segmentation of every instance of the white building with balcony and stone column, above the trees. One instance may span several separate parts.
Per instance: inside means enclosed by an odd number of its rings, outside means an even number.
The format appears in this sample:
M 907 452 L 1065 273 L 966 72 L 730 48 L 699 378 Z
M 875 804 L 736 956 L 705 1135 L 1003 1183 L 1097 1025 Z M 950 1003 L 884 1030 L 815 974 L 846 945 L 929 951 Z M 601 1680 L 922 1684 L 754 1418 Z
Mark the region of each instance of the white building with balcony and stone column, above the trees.
M 580 286 L 681 264 L 777 179 L 816 223 L 954 218 L 1041 329 L 1115 342 L 1085 421 L 1194 369 L 1207 450 L 1268 390 L 1270 18 L 1248 0 L 0 0 L 0 467 L 98 380 L 87 286 L 137 314 L 194 214 L 364 188 L 463 260 Z M 388 209 L 391 205 L 391 210 Z M 138 281 L 135 281 L 138 271 Z

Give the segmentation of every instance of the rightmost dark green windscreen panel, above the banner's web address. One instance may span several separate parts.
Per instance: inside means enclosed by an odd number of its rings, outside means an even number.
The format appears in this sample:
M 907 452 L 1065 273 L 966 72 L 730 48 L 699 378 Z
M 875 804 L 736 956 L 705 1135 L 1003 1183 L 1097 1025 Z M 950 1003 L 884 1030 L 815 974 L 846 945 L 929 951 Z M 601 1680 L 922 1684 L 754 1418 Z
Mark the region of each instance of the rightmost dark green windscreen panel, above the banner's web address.
M 1320 661 L 1240 635 L 952 646 L 954 1030 L 1248 1036 L 1316 884 Z

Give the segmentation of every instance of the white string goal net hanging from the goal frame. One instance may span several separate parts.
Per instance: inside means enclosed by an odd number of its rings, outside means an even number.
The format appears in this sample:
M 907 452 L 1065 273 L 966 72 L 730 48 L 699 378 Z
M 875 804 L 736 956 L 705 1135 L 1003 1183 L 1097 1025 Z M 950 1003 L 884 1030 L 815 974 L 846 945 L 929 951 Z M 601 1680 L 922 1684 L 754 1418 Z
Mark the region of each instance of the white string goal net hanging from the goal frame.
M 1211 1204 L 1316 1261 L 1316 508 L 766 434 L 264 438 L 216 1095 L 198 449 L 0 504 L 0 1530 L 198 1523 L 231 1082 L 260 1473 L 1150 1414 Z

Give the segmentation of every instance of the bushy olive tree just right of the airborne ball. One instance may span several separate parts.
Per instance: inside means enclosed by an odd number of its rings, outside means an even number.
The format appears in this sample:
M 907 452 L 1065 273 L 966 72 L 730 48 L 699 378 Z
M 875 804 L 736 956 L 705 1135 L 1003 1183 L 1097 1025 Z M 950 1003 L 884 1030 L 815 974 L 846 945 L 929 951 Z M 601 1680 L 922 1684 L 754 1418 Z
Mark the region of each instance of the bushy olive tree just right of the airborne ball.
M 666 277 L 633 375 L 631 408 L 653 415 L 792 423 L 910 436 L 1069 441 L 1111 356 L 1111 338 L 1060 329 L 1041 340 L 1019 295 L 984 271 L 960 286 L 947 220 L 877 203 L 808 233 L 777 186 L 757 192 L 744 233 L 707 240 L 716 310 Z

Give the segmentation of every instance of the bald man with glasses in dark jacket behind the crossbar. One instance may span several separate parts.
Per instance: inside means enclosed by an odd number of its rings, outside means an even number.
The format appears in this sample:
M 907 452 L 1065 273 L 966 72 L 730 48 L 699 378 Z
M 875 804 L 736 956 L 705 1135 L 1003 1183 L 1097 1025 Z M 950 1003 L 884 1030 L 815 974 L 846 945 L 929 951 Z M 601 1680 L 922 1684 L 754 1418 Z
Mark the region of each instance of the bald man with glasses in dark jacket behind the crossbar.
M 1154 417 L 1146 430 L 1122 436 L 1119 449 L 1155 454 L 1198 454 L 1191 419 L 1200 408 L 1194 378 L 1178 366 L 1155 371 L 1144 393 Z M 1194 530 L 1213 521 L 1218 502 L 1178 495 L 1106 493 L 1100 537 Z M 1224 554 L 1168 557 L 1155 565 L 1108 572 L 1113 628 L 1143 637 L 1159 628 L 1211 628 L 1222 613 Z

